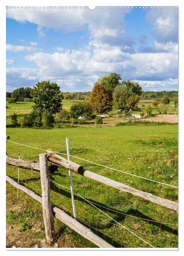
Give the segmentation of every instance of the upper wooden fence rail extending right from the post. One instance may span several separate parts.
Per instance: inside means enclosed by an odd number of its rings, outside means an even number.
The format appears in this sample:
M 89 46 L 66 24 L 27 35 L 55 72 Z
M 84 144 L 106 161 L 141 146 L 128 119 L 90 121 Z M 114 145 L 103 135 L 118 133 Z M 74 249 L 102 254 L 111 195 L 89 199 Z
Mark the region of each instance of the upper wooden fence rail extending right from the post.
M 53 152 L 48 151 L 48 150 L 46 150 L 46 153 L 48 154 L 48 160 L 50 162 L 54 162 L 54 163 L 57 163 L 58 165 L 61 165 L 62 167 L 66 167 L 66 165 L 64 163 L 67 160 L 65 158 L 62 158 L 59 155 L 56 155 Z M 57 159 L 57 161 L 56 161 L 56 159 Z M 63 159 L 65 159 L 65 161 Z M 73 165 L 75 165 L 75 164 L 73 163 Z M 66 168 L 69 169 L 69 167 L 66 167 Z M 168 199 L 163 199 L 161 197 L 154 196 L 151 193 L 146 193 L 144 191 L 129 187 L 128 185 L 125 185 L 125 184 L 120 183 L 118 181 L 111 180 L 110 178 L 106 178 L 104 176 L 101 176 L 99 174 L 90 172 L 88 170 L 84 170 L 83 173 L 79 173 L 79 174 L 81 174 L 81 175 L 83 175 L 87 178 L 91 178 L 92 180 L 101 182 L 101 183 L 103 183 L 107 186 L 110 186 L 112 188 L 119 189 L 120 191 L 131 193 L 135 196 L 142 197 L 143 199 L 148 200 L 152 203 L 156 203 L 158 205 L 161 205 L 161 206 L 167 207 L 169 209 L 178 211 L 178 203 L 170 201 Z

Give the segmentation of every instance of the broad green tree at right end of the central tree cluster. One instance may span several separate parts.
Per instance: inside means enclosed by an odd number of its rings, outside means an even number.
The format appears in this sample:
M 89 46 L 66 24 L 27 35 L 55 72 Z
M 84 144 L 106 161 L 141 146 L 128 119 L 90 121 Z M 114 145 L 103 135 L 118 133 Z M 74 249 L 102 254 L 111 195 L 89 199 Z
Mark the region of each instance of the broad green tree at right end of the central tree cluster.
M 130 80 L 122 81 L 115 87 L 113 92 L 113 106 L 116 109 L 131 108 L 137 109 L 139 99 L 142 94 L 142 88 L 138 83 L 130 82 Z

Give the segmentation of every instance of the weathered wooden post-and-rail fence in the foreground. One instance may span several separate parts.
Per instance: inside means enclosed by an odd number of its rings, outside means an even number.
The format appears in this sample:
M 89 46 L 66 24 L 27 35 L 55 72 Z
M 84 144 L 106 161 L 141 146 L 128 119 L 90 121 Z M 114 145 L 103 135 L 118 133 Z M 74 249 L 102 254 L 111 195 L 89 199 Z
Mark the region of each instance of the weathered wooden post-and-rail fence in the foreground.
M 9 139 L 9 136 L 7 136 L 7 139 Z M 44 153 L 44 154 L 39 155 L 39 161 L 40 161 L 39 163 L 35 162 L 35 161 L 24 161 L 22 159 L 15 159 L 15 158 L 11 158 L 8 155 L 6 155 L 6 163 L 7 164 L 18 166 L 18 167 L 26 167 L 26 168 L 30 168 L 30 169 L 40 172 L 42 197 L 38 196 L 37 194 L 32 192 L 30 189 L 18 184 L 17 182 L 12 180 L 8 176 L 6 176 L 6 181 L 9 182 L 10 184 L 12 184 L 14 187 L 24 191 L 25 193 L 30 195 L 32 198 L 34 198 L 38 202 L 42 203 L 46 239 L 49 243 L 54 241 L 54 234 L 55 234 L 54 218 L 53 218 L 53 216 L 54 216 L 55 218 L 59 219 L 60 221 L 62 221 L 66 225 L 68 225 L 71 229 L 76 231 L 78 234 L 80 234 L 84 238 L 87 238 L 89 241 L 96 244 L 97 246 L 99 246 L 101 248 L 114 248 L 112 245 L 108 244 L 102 238 L 98 237 L 90 229 L 88 229 L 87 227 L 82 225 L 76 219 L 70 217 L 63 210 L 61 210 L 61 209 L 55 207 L 53 204 L 51 204 L 49 172 L 53 173 L 55 170 L 57 170 L 57 166 L 52 165 L 52 164 L 48 166 L 48 164 L 47 164 L 48 161 L 55 163 L 57 165 L 60 165 L 62 167 L 65 167 L 66 169 L 76 172 L 79 175 L 85 176 L 92 180 L 98 181 L 102 184 L 108 185 L 112 188 L 119 189 L 120 191 L 123 191 L 123 192 L 131 193 L 135 196 L 141 197 L 143 199 L 146 199 L 150 202 L 156 203 L 163 207 L 167 207 L 167 208 L 175 210 L 175 211 L 178 210 L 178 203 L 176 203 L 176 202 L 170 201 L 168 199 L 163 199 L 158 196 L 154 196 L 150 193 L 146 193 L 146 192 L 140 191 L 138 189 L 134 189 L 132 187 L 129 187 L 128 185 L 111 180 L 110 178 L 106 178 L 99 174 L 85 170 L 83 168 L 83 166 L 78 165 L 77 163 L 69 161 L 65 158 L 62 158 L 59 155 L 54 154 L 50 150 L 49 151 L 46 150 L 46 153 L 47 154 Z

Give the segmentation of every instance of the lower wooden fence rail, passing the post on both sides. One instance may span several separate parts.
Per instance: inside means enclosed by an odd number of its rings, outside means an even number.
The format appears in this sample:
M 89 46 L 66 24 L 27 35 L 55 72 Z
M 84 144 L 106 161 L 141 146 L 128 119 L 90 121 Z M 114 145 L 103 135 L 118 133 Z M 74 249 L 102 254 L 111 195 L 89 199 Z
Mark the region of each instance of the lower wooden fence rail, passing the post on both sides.
M 12 180 L 9 176 L 6 175 L 6 181 L 9 182 L 11 185 L 13 185 L 15 188 L 18 188 L 25 192 L 27 195 L 31 196 L 35 200 L 37 200 L 39 203 L 42 203 L 42 197 L 36 195 L 34 192 L 32 192 L 30 189 L 18 184 L 14 180 Z M 55 207 L 53 204 L 51 204 L 51 209 L 53 211 L 53 215 L 55 218 L 59 219 L 63 223 L 65 223 L 67 226 L 69 226 L 71 229 L 76 231 L 78 234 L 83 236 L 84 238 L 88 239 L 89 241 L 93 242 L 100 248 L 114 248 L 114 246 L 108 244 L 106 241 L 104 241 L 102 238 L 98 237 L 96 234 L 94 234 L 90 229 L 82 225 L 80 222 L 78 222 L 76 219 L 73 219 L 68 214 L 66 214 L 63 210 Z

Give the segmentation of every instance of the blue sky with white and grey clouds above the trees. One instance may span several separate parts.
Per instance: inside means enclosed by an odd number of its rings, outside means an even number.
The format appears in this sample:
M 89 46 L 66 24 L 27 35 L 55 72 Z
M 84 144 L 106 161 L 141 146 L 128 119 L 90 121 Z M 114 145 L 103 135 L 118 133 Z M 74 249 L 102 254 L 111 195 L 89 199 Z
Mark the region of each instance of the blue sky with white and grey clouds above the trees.
M 57 82 L 91 91 L 116 72 L 144 91 L 178 90 L 176 8 L 7 8 L 7 91 Z

